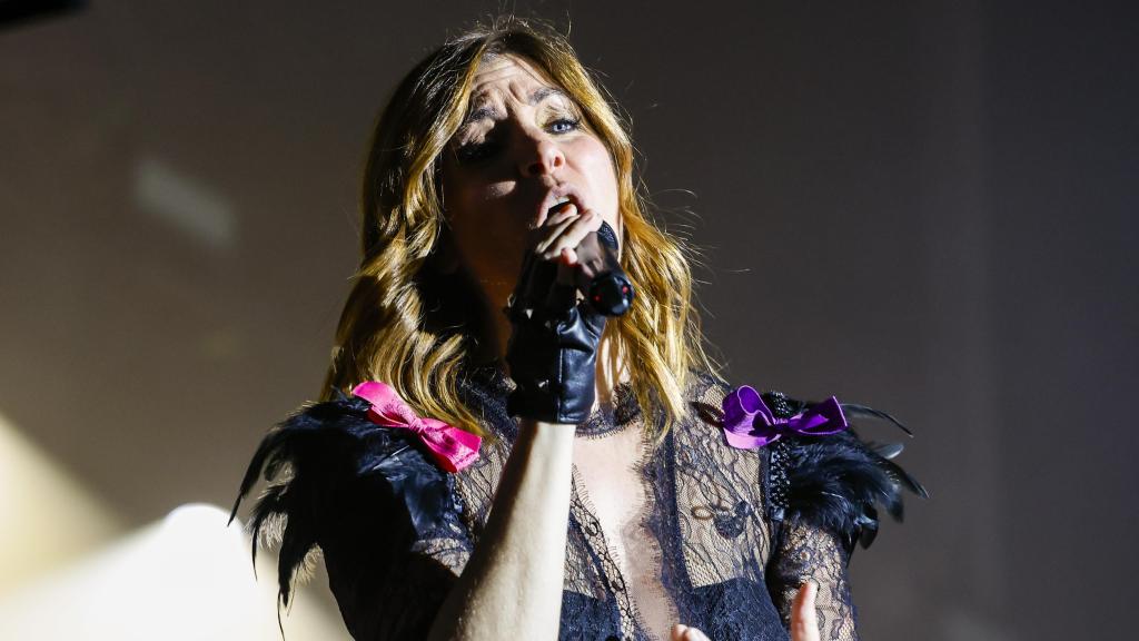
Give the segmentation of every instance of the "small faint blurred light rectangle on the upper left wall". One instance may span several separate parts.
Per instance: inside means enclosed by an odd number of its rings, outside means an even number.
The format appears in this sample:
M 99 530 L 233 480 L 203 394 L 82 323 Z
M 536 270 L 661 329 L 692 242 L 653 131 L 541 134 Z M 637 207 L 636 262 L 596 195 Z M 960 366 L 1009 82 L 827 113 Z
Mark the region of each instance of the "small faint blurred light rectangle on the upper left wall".
M 232 203 L 163 161 L 142 159 L 134 167 L 134 202 L 211 249 L 231 246 L 237 240 Z

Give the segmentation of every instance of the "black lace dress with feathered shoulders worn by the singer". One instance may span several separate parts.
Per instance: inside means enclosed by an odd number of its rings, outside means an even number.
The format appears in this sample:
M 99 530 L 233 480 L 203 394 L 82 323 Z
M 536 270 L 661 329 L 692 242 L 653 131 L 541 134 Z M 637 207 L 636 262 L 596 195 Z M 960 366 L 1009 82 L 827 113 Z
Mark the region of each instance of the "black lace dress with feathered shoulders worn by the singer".
M 485 439 L 477 461 L 458 473 L 440 469 L 407 430 L 371 423 L 360 398 L 306 406 L 270 432 L 241 496 L 262 471 L 276 480 L 249 527 L 260 535 L 255 549 L 259 541 L 280 546 L 281 602 L 296 570 L 322 553 L 354 639 L 426 638 L 478 543 L 516 439 L 517 422 L 506 414 L 511 387 L 497 370 L 469 371 L 460 395 L 497 438 Z M 672 623 L 713 640 L 788 639 L 792 600 L 809 578 L 820 589 L 821 638 L 858 639 L 846 575 L 854 543 L 872 539 L 876 505 L 900 517 L 899 489 L 924 489 L 887 460 L 898 446 L 865 444 L 852 429 L 730 447 L 720 422 L 730 389 L 697 374 L 690 417 L 659 447 L 645 441 L 634 466 L 645 502 L 634 532 L 623 535 L 650 553 L 622 562 L 575 466 L 560 639 L 656 639 L 642 612 L 662 602 Z M 788 414 L 803 406 L 764 398 Z M 579 435 L 608 438 L 644 427 L 626 387 L 614 399 Z

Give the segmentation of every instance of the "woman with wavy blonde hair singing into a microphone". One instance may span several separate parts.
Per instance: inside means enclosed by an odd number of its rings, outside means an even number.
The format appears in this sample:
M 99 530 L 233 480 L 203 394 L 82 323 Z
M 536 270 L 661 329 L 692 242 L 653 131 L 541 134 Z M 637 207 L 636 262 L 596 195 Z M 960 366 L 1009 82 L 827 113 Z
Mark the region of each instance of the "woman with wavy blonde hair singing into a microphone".
M 721 381 L 638 186 L 556 33 L 478 27 L 403 79 L 322 400 L 241 486 L 276 480 L 251 528 L 282 603 L 319 551 L 359 640 L 858 638 L 850 554 L 924 494 L 847 422 L 888 416 Z

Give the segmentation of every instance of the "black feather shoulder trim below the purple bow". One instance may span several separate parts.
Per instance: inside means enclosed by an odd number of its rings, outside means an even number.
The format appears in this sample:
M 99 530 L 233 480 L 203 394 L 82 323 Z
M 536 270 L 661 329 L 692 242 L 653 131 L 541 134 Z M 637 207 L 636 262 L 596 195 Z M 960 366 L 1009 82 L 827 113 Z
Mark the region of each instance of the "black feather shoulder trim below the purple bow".
M 777 417 L 790 417 L 810 404 L 767 392 L 764 403 Z M 869 416 L 901 423 L 884 412 L 842 405 L 847 416 Z M 769 496 L 776 521 L 796 520 L 838 535 L 850 553 L 855 542 L 869 547 L 878 532 L 878 508 L 895 520 L 904 514 L 902 489 L 928 498 L 913 477 L 891 461 L 901 444 L 876 445 L 853 428 L 827 436 L 787 436 L 770 446 Z

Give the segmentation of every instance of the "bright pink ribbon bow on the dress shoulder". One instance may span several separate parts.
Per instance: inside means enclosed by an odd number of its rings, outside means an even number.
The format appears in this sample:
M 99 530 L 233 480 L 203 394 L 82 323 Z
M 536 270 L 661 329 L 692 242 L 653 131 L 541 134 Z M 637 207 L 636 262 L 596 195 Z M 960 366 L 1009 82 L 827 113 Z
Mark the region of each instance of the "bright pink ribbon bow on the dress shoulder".
M 353 388 L 352 393 L 371 403 L 368 419 L 372 423 L 413 431 L 446 471 L 458 472 L 478 459 L 478 444 L 482 443 L 482 438 L 439 419 L 417 415 L 400 395 L 395 393 L 392 386 L 379 381 L 364 381 Z

